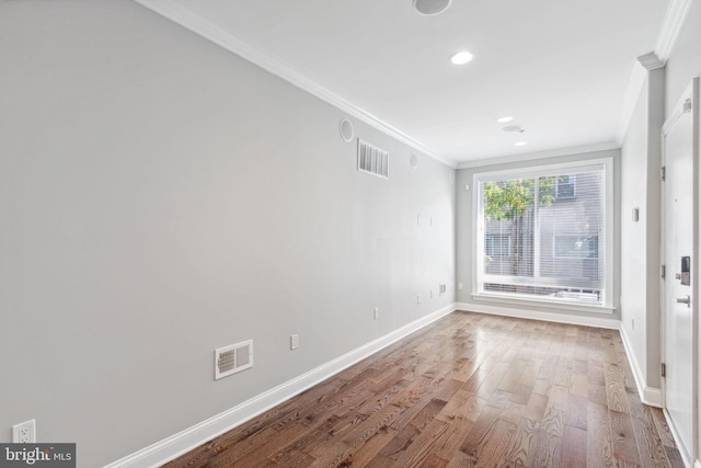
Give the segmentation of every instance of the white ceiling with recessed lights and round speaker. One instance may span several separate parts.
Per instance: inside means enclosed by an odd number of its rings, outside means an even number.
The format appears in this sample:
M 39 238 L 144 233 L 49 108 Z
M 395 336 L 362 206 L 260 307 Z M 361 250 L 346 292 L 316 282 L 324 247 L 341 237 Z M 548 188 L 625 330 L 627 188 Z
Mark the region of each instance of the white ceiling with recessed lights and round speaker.
M 619 146 L 636 57 L 660 55 L 675 4 L 452 0 L 427 16 L 412 0 L 137 1 L 453 167 Z M 452 65 L 462 49 L 474 59 Z

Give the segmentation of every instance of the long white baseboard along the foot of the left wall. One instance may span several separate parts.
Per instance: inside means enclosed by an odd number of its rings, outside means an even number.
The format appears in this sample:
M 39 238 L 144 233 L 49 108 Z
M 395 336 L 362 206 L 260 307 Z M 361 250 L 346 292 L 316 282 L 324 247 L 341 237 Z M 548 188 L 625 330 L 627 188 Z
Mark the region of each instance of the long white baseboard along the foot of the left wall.
M 180 455 L 198 447 L 207 441 L 223 434 L 233 427 L 255 418 L 277 404 L 301 393 L 310 387 L 332 377 L 341 370 L 365 359 L 383 347 L 451 313 L 456 305 L 451 304 L 426 317 L 401 327 L 377 340 L 357 347 L 333 361 L 323 364 L 307 374 L 302 374 L 283 385 L 272 388 L 243 403 L 195 424 L 177 434 L 128 455 L 105 468 L 151 468 L 159 467 Z

